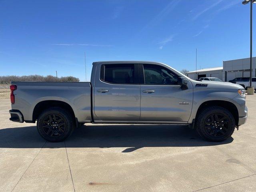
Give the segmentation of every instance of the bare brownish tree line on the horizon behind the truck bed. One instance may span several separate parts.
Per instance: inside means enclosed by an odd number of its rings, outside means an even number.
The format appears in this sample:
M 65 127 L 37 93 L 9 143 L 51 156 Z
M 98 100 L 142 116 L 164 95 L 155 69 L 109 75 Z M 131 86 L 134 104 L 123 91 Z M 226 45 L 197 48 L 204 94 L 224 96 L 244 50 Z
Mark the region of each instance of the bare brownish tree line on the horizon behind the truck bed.
M 79 78 L 73 76 L 66 77 L 54 77 L 52 75 L 42 76 L 42 75 L 24 75 L 24 76 L 0 76 L 0 84 L 10 84 L 12 81 L 38 81 L 38 82 L 79 82 Z

